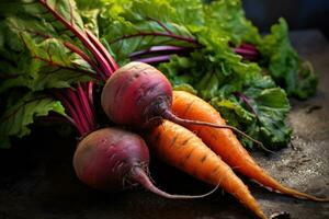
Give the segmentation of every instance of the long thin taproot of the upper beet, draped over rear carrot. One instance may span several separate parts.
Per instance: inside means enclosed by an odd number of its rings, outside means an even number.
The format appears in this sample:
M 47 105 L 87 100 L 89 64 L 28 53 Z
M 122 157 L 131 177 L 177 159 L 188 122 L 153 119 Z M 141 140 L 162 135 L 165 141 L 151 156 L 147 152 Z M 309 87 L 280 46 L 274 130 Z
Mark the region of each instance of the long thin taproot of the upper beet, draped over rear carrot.
M 163 111 L 162 113 L 162 117 L 168 119 L 168 120 L 171 120 L 173 123 L 177 123 L 179 125 L 186 125 L 186 124 L 190 124 L 190 125 L 196 125 L 196 126 L 208 126 L 208 127 L 213 127 L 213 128 L 227 128 L 227 129 L 230 129 L 230 130 L 234 130 L 235 132 L 243 136 L 245 138 L 251 140 L 252 142 L 256 142 L 257 145 L 259 145 L 260 148 L 262 148 L 264 151 L 266 152 L 270 152 L 270 153 L 275 153 L 271 150 L 269 150 L 268 148 L 264 147 L 264 145 L 259 141 L 259 140 L 256 140 L 254 138 L 248 136 L 247 134 L 245 134 L 243 131 L 239 130 L 238 128 L 234 127 L 234 126 L 229 126 L 229 125 L 217 125 L 217 124 L 212 124 L 212 123 L 207 123 L 207 122 L 201 122 L 201 120 L 190 120 L 190 119 L 183 119 L 183 118 L 180 118 L 178 116 L 175 116 L 173 113 L 171 113 L 170 111 Z

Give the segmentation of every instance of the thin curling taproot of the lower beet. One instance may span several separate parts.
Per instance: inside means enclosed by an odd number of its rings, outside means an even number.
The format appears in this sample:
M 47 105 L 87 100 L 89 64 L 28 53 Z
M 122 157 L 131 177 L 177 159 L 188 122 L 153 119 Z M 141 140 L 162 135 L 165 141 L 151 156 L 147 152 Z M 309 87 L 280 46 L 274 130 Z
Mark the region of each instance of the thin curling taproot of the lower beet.
M 132 177 L 132 180 L 138 182 L 141 186 L 144 186 L 148 191 L 150 191 L 159 196 L 162 196 L 164 198 L 171 198 L 171 199 L 204 198 L 204 197 L 213 194 L 215 191 L 217 191 L 217 188 L 219 186 L 219 185 L 217 185 L 214 189 L 212 189 L 211 192 L 203 194 L 203 195 L 171 195 L 171 194 L 168 194 L 168 193 L 157 188 L 150 181 L 149 176 L 146 174 L 146 172 L 140 166 L 134 166 L 132 169 L 131 177 Z

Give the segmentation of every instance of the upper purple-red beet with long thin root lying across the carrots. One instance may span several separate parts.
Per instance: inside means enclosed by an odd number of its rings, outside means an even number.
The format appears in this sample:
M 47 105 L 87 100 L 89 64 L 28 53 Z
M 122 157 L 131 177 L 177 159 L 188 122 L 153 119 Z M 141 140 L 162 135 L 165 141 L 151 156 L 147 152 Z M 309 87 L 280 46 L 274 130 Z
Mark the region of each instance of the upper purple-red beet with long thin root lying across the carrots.
M 101 103 L 107 117 L 118 125 L 151 128 L 166 118 L 182 126 L 192 124 L 229 128 L 262 146 L 232 126 L 219 126 L 175 116 L 171 112 L 172 87 L 169 80 L 148 64 L 132 61 L 116 70 L 103 88 Z

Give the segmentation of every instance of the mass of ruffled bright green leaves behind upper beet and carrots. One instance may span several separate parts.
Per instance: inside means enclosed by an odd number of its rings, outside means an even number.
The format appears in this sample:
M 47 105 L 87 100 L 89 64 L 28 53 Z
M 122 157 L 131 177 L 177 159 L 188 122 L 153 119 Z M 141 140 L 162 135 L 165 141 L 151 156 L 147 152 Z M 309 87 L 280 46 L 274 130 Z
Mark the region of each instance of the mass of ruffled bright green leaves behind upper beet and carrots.
M 173 88 L 197 93 L 228 124 L 262 140 L 266 147 L 287 145 L 287 95 L 305 99 L 314 94 L 316 78 L 290 44 L 284 20 L 263 37 L 246 19 L 240 0 L 102 2 L 109 7 L 100 13 L 100 37 L 110 43 L 120 64 L 128 62 L 135 51 L 158 45 L 193 48 L 188 55 L 171 55 L 168 62 L 157 65 Z M 257 62 L 234 51 L 232 47 L 243 43 L 260 50 Z

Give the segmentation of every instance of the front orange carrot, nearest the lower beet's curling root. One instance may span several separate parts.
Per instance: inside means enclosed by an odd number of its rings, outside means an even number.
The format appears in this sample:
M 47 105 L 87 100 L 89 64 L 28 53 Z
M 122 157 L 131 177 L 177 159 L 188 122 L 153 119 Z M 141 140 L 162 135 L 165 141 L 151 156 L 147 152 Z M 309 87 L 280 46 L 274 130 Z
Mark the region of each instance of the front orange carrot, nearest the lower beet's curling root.
M 163 119 L 149 130 L 148 146 L 166 163 L 234 195 L 259 218 L 266 218 L 243 182 L 192 131 Z

